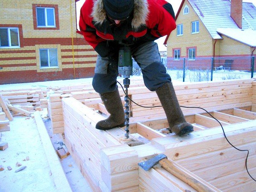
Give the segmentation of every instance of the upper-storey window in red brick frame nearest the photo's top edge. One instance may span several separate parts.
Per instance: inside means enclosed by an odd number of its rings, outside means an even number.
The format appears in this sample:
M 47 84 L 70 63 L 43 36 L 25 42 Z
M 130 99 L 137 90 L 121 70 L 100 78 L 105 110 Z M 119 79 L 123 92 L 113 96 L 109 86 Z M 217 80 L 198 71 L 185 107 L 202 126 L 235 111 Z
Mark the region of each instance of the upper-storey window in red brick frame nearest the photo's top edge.
M 38 27 L 55 27 L 55 10 L 51 7 L 37 7 L 36 20 Z

